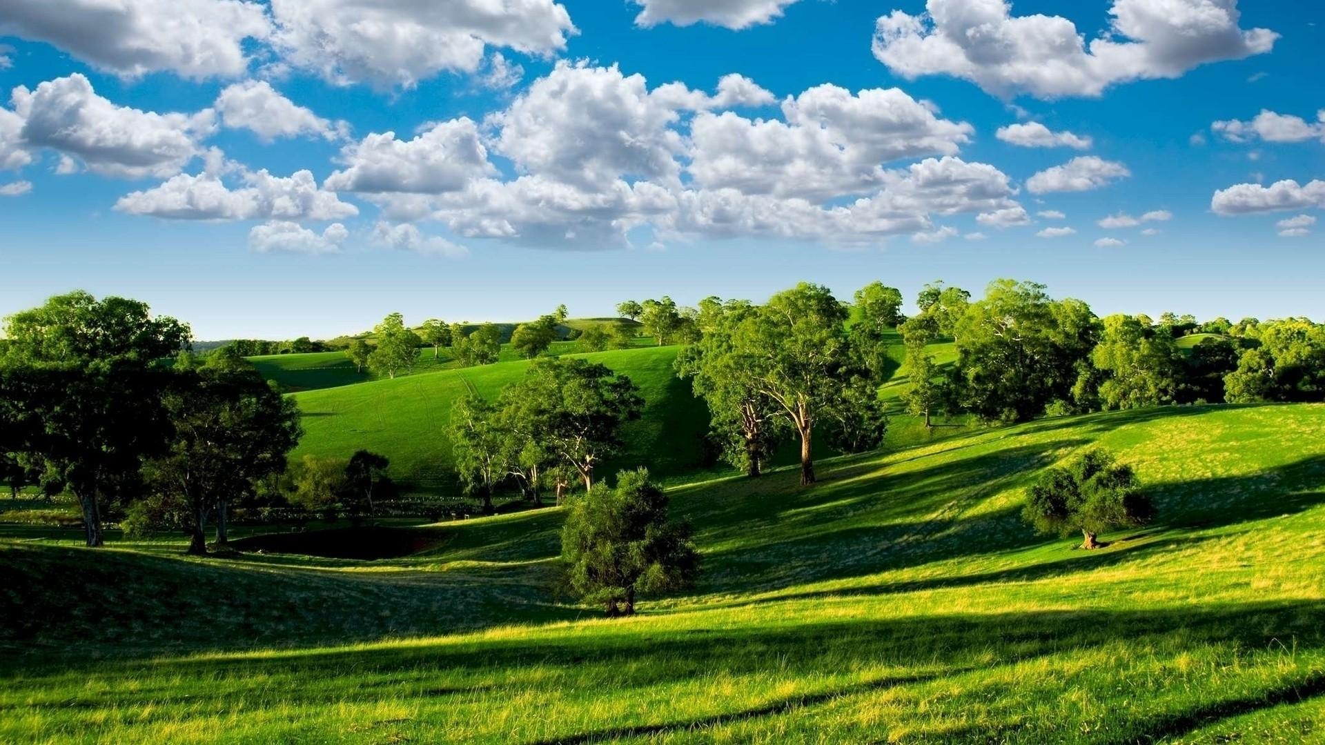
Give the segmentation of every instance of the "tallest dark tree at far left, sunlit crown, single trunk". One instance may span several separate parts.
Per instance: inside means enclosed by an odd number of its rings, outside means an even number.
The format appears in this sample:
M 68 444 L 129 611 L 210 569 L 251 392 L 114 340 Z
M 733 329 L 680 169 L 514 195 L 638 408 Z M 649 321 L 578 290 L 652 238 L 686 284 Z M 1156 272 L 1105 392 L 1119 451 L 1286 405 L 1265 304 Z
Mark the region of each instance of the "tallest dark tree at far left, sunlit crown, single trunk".
M 3 335 L 0 452 L 72 489 L 87 545 L 101 546 L 102 509 L 135 496 L 143 460 L 164 447 L 164 361 L 187 349 L 188 326 L 74 292 L 9 317 Z

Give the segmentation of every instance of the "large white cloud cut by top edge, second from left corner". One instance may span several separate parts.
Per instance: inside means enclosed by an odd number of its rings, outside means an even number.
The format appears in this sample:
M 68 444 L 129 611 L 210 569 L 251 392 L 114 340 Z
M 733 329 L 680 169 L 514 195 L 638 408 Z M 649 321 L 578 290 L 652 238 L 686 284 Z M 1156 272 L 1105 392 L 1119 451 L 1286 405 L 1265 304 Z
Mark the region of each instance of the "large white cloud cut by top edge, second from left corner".
M 379 87 L 473 73 L 488 46 L 554 54 L 576 33 L 554 0 L 272 0 L 272 15 L 288 64 Z

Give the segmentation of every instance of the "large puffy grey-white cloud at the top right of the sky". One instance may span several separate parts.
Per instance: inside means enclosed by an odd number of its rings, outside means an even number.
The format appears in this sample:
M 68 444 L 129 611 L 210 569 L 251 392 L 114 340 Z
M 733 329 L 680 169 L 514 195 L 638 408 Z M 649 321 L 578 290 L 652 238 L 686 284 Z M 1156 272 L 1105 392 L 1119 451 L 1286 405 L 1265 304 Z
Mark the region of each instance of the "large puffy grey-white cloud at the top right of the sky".
M 880 17 L 874 57 L 906 78 L 955 76 L 1000 97 L 1100 95 L 1114 84 L 1269 52 L 1279 38 L 1240 29 L 1238 0 L 1114 0 L 1109 32 L 1089 45 L 1068 19 L 1012 16 L 1006 0 L 929 0 L 926 9 Z

